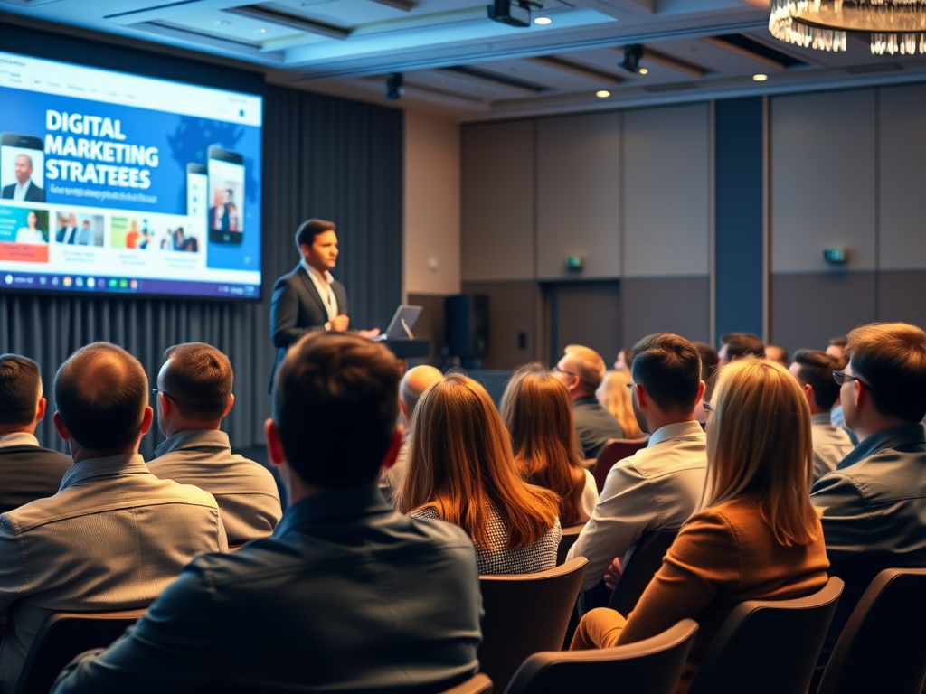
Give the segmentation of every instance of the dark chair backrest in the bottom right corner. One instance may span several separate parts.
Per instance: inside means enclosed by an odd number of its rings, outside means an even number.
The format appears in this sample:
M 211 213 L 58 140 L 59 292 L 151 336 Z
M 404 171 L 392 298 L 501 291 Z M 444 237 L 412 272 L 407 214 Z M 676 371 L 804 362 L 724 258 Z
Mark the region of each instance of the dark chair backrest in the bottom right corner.
M 919 694 L 926 677 L 926 569 L 884 569 L 832 650 L 820 694 Z

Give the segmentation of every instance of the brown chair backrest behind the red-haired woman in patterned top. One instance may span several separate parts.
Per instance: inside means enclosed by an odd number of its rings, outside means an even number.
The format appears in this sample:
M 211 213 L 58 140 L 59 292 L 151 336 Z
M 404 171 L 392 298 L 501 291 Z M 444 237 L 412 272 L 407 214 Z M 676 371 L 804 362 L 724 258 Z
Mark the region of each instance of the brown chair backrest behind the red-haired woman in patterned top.
M 480 576 L 482 646 L 480 672 L 505 691 L 524 659 L 562 648 L 585 576 L 585 557 L 537 574 Z

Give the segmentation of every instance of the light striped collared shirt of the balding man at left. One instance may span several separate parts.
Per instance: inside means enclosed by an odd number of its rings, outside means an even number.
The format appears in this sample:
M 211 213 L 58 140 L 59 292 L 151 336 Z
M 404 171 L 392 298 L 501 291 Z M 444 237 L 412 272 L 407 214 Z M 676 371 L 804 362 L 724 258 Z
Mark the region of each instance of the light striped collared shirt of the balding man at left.
M 202 551 L 228 547 L 205 491 L 157 479 L 141 455 L 82 460 L 61 489 L 0 515 L 0 690 L 16 688 L 49 614 L 144 607 Z

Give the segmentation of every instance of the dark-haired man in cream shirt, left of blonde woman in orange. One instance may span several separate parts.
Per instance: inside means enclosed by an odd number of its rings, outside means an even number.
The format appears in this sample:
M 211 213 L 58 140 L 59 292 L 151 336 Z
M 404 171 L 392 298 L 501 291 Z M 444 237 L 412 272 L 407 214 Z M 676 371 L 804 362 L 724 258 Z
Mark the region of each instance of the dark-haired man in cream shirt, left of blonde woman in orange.
M 582 590 L 602 577 L 613 584 L 621 558 L 644 534 L 681 527 L 694 512 L 707 467 L 705 433 L 694 421 L 703 392 L 691 342 L 660 332 L 633 347 L 633 412 L 651 435 L 646 448 L 611 468 L 592 519 L 569 550 L 569 559 L 588 559 Z

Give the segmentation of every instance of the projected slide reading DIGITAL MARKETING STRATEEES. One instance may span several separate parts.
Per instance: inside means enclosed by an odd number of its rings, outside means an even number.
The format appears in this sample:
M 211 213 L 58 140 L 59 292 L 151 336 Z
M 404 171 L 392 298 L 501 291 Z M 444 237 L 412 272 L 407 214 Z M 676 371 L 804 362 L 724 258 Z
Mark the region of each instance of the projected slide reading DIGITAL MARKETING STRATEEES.
M 0 291 L 259 298 L 262 108 L 0 52 Z

